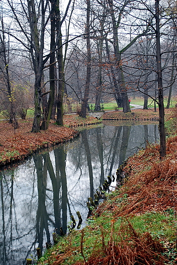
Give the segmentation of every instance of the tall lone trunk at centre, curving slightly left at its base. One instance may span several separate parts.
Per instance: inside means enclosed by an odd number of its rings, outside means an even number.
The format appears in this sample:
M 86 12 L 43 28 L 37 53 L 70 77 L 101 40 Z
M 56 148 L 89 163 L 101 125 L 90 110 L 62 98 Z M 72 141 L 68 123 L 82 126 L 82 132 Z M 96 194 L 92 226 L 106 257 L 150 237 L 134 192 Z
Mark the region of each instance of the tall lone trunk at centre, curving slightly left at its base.
M 87 74 L 86 74 L 85 93 L 80 113 L 80 116 L 82 118 L 86 118 L 87 104 L 88 104 L 89 91 L 90 91 L 90 77 L 91 77 L 90 0 L 87 0 L 86 40 L 87 40 Z

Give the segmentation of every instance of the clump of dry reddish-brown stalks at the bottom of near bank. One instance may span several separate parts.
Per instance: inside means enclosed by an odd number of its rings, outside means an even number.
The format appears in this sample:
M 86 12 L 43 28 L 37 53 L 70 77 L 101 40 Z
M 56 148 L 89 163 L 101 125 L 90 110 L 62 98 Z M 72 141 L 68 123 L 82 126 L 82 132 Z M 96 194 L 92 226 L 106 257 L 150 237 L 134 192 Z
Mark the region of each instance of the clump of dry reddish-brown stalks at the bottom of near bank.
M 161 265 L 165 258 L 161 255 L 163 247 L 146 232 L 139 236 L 127 221 L 119 231 L 115 231 L 112 223 L 110 241 L 106 245 L 102 234 L 102 250 L 94 251 L 85 265 Z M 77 262 L 75 265 L 81 265 Z

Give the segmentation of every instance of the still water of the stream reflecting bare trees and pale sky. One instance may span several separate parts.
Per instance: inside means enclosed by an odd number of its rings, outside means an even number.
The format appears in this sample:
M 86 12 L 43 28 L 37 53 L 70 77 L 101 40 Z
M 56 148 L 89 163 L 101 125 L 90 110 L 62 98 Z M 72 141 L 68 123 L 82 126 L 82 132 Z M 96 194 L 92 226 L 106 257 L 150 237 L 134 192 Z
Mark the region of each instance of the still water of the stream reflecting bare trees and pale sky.
M 77 211 L 82 228 L 88 197 L 128 156 L 158 138 L 158 125 L 103 125 L 0 172 L 0 264 L 21 265 L 35 258 L 37 247 L 53 244 L 54 230 L 66 232 L 70 216 L 78 223 Z

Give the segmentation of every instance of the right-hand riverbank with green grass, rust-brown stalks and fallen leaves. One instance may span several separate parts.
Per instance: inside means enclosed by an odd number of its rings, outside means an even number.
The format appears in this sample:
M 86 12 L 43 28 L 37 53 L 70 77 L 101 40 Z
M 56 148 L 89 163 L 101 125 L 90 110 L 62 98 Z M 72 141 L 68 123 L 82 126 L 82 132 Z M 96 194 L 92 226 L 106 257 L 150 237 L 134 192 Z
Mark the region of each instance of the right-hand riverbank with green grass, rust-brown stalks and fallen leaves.
M 168 121 L 175 130 L 164 160 L 157 144 L 129 157 L 124 186 L 106 194 L 87 227 L 58 237 L 39 265 L 176 263 L 177 136 L 175 117 Z

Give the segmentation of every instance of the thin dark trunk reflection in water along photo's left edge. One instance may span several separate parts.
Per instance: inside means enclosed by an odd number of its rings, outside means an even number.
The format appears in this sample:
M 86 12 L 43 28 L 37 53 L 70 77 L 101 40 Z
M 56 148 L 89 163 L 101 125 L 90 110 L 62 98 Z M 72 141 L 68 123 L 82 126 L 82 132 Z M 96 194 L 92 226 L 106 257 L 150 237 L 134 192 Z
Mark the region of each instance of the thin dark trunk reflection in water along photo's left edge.
M 5 230 L 5 208 L 4 208 L 4 192 L 3 192 L 3 176 L 0 172 L 0 183 L 1 183 L 1 203 L 2 203 L 2 221 L 3 221 L 3 254 L 1 254 L 1 259 L 4 261 L 7 259 L 6 252 L 6 230 Z

